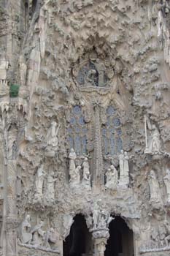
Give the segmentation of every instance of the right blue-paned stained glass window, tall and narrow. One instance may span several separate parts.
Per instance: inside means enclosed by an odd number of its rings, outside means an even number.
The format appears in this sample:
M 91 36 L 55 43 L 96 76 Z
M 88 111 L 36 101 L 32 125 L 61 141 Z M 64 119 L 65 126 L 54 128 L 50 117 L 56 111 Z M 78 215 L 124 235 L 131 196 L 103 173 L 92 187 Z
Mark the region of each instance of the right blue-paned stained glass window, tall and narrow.
M 107 108 L 107 122 L 102 127 L 102 141 L 105 155 L 114 156 L 123 148 L 120 118 L 113 106 Z

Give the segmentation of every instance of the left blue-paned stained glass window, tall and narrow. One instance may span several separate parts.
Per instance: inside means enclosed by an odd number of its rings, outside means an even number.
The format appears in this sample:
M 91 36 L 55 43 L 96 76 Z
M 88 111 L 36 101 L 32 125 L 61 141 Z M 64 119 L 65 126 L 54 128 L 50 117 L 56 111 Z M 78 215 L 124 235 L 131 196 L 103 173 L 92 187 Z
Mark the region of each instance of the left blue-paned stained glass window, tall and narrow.
M 77 155 L 87 154 L 87 133 L 88 129 L 82 108 L 75 105 L 71 111 L 67 134 L 69 148 L 74 148 Z

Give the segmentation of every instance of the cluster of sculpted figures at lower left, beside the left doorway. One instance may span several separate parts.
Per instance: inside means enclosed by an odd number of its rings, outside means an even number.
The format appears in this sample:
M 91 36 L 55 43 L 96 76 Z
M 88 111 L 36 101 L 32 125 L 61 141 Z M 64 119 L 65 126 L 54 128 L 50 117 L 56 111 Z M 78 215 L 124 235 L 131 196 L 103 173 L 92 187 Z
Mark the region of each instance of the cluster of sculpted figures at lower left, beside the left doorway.
M 21 223 L 19 234 L 21 244 L 55 250 L 58 235 L 53 227 L 50 227 L 46 231 L 43 230 L 42 228 L 45 224 L 42 221 L 38 225 L 31 227 L 30 220 L 31 218 L 28 214 Z

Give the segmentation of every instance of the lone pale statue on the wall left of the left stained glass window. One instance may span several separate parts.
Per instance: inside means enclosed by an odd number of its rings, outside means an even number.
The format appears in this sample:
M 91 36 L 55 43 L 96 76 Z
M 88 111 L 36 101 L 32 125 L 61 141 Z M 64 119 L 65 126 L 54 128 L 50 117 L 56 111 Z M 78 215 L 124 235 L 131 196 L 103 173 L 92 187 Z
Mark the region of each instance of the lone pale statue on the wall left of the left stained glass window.
M 53 148 L 58 147 L 58 130 L 60 126 L 57 127 L 57 123 L 53 121 L 47 132 L 47 146 L 53 146 Z

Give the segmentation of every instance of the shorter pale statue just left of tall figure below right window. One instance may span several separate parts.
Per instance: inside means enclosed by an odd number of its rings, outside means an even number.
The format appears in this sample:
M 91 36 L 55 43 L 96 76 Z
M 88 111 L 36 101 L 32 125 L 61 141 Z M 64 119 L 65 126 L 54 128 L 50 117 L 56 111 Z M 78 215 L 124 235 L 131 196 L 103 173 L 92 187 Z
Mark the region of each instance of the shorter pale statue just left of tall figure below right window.
M 114 165 L 111 165 L 107 170 L 107 183 L 105 184 L 106 189 L 117 189 L 117 170 Z

